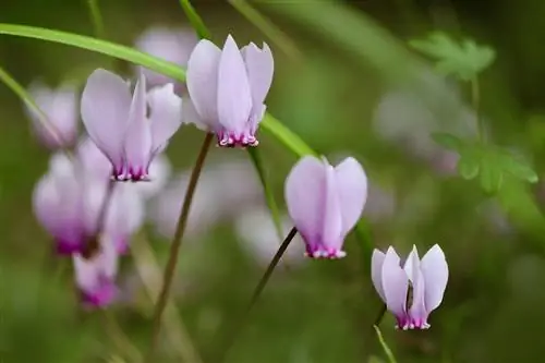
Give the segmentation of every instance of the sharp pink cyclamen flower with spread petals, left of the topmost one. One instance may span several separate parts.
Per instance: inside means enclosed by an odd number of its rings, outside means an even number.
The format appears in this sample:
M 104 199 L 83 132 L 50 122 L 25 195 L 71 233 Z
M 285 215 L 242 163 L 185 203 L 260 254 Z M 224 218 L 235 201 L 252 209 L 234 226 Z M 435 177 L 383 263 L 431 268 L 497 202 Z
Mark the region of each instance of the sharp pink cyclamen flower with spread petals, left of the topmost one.
M 93 72 L 82 95 L 82 119 L 112 164 L 114 179 L 149 180 L 149 164 L 182 123 L 182 100 L 172 84 L 146 94 L 142 74 L 132 97 L 129 87 L 111 72 Z

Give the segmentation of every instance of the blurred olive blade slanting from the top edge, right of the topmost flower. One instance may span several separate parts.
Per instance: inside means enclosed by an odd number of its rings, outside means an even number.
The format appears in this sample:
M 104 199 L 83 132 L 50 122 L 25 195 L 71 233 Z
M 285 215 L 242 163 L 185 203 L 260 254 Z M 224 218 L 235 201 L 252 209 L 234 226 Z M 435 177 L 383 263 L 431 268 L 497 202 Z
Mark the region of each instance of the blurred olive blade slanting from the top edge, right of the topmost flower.
M 229 3 L 237 9 L 244 17 L 254 24 L 263 34 L 275 43 L 288 57 L 301 60 L 303 55 L 298 49 L 293 40 L 276 26 L 270 20 L 265 17 L 246 0 L 229 0 Z

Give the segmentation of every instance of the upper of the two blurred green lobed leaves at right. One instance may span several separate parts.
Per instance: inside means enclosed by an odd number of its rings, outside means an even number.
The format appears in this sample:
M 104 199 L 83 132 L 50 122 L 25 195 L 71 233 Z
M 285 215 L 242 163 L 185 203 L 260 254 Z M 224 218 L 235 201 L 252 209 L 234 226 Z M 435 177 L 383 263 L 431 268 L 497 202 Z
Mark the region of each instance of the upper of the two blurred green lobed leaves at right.
M 488 46 L 477 46 L 472 39 L 458 44 L 440 32 L 432 33 L 427 39 L 411 40 L 409 45 L 434 58 L 439 72 L 457 75 L 462 81 L 474 78 L 496 58 L 496 52 Z

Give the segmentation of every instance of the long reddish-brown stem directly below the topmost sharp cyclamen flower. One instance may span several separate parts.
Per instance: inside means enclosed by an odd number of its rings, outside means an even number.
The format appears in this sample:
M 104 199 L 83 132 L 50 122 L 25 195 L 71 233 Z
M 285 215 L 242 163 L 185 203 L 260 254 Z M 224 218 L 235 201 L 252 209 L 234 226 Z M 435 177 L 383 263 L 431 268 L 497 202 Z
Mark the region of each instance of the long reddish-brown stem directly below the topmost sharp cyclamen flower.
M 178 218 L 178 225 L 174 231 L 174 237 L 172 238 L 172 243 L 170 244 L 170 254 L 165 267 L 165 274 L 162 278 L 162 287 L 157 300 L 157 304 L 154 313 L 153 330 L 152 330 L 152 343 L 149 346 L 149 351 L 147 354 L 146 362 L 152 363 L 155 354 L 155 348 L 157 346 L 157 339 L 159 338 L 159 331 L 161 326 L 161 317 L 167 306 L 170 287 L 172 286 L 172 280 L 174 278 L 175 267 L 178 264 L 178 254 L 180 252 L 180 246 L 182 245 L 182 237 L 185 231 L 185 226 L 187 225 L 187 217 L 190 215 L 190 207 L 193 201 L 193 195 L 195 193 L 198 177 L 203 170 L 204 161 L 208 149 L 214 141 L 214 134 L 207 133 L 203 145 L 201 146 L 201 152 L 198 153 L 197 160 L 195 161 L 195 167 L 191 173 L 187 190 L 185 192 L 185 197 L 183 199 L 182 210 L 180 211 L 180 218 Z

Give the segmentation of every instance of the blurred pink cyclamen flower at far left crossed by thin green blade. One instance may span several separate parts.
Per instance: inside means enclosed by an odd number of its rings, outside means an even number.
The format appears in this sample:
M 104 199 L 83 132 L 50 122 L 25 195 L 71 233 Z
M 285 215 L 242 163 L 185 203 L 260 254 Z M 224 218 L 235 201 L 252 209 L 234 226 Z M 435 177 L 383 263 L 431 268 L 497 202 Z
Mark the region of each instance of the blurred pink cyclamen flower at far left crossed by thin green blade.
M 53 89 L 43 83 L 34 83 L 28 87 L 28 93 L 49 123 L 49 126 L 45 125 L 39 114 L 28 106 L 25 107 L 39 141 L 50 148 L 63 148 L 74 144 L 78 122 L 76 87 L 65 84 Z

